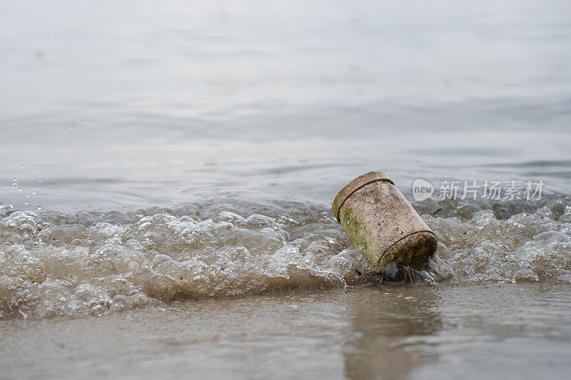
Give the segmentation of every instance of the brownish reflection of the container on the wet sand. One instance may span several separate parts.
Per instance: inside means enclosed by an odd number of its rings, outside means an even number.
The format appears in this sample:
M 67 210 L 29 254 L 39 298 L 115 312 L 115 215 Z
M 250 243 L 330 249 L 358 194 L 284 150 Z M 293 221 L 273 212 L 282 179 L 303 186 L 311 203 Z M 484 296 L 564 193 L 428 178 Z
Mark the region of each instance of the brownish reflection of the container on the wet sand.
M 361 292 L 360 292 L 361 293 Z M 351 297 L 352 334 L 344 349 L 349 379 L 403 379 L 430 357 L 410 349 L 405 339 L 442 328 L 439 296 L 430 287 L 383 286 Z

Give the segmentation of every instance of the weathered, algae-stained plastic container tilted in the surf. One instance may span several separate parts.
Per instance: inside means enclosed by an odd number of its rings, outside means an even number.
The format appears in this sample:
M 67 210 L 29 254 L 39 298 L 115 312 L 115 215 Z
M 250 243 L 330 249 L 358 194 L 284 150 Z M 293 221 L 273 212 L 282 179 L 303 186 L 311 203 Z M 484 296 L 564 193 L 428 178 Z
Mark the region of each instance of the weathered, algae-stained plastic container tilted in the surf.
M 434 232 L 383 172 L 350 181 L 335 196 L 332 210 L 351 240 L 381 270 L 392 263 L 422 268 L 436 252 Z

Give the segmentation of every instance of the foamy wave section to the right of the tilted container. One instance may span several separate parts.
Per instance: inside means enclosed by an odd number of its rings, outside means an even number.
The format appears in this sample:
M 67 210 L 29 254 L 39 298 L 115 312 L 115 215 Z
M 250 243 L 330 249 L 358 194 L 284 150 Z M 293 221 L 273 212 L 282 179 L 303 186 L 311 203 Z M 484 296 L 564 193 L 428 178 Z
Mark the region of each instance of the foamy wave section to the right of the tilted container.
M 481 210 L 470 220 L 425 215 L 425 221 L 438 237 L 438 256 L 458 282 L 571 282 L 568 204 L 560 217 L 545 206 L 507 220 L 497 219 L 492 210 Z

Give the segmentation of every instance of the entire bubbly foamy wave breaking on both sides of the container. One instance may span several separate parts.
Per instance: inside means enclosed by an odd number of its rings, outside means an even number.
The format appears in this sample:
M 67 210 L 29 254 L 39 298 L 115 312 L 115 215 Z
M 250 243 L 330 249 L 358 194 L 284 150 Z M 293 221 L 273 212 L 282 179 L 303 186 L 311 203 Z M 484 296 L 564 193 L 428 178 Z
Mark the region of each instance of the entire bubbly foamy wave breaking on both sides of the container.
M 438 207 L 443 214 L 458 210 L 451 202 Z M 433 215 L 423 218 L 438 237 L 438 257 L 405 277 L 459 284 L 571 281 L 566 198 L 500 218 L 497 210 L 475 206 L 462 216 Z M 398 273 L 393 268 L 384 277 Z M 178 297 L 345 287 L 382 278 L 329 210 L 312 205 L 211 202 L 74 215 L 16 211 L 0 219 L 3 317 L 98 315 Z

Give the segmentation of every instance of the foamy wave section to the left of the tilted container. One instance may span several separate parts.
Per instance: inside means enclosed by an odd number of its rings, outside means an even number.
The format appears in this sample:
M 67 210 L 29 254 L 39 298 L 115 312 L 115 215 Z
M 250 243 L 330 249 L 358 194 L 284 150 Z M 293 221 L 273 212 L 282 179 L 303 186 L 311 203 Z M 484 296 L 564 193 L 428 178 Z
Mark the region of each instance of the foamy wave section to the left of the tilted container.
M 0 312 L 103 314 L 176 297 L 342 286 L 372 271 L 323 210 L 298 219 L 174 213 L 91 225 L 84 215 L 87 226 L 31 211 L 2 218 Z

